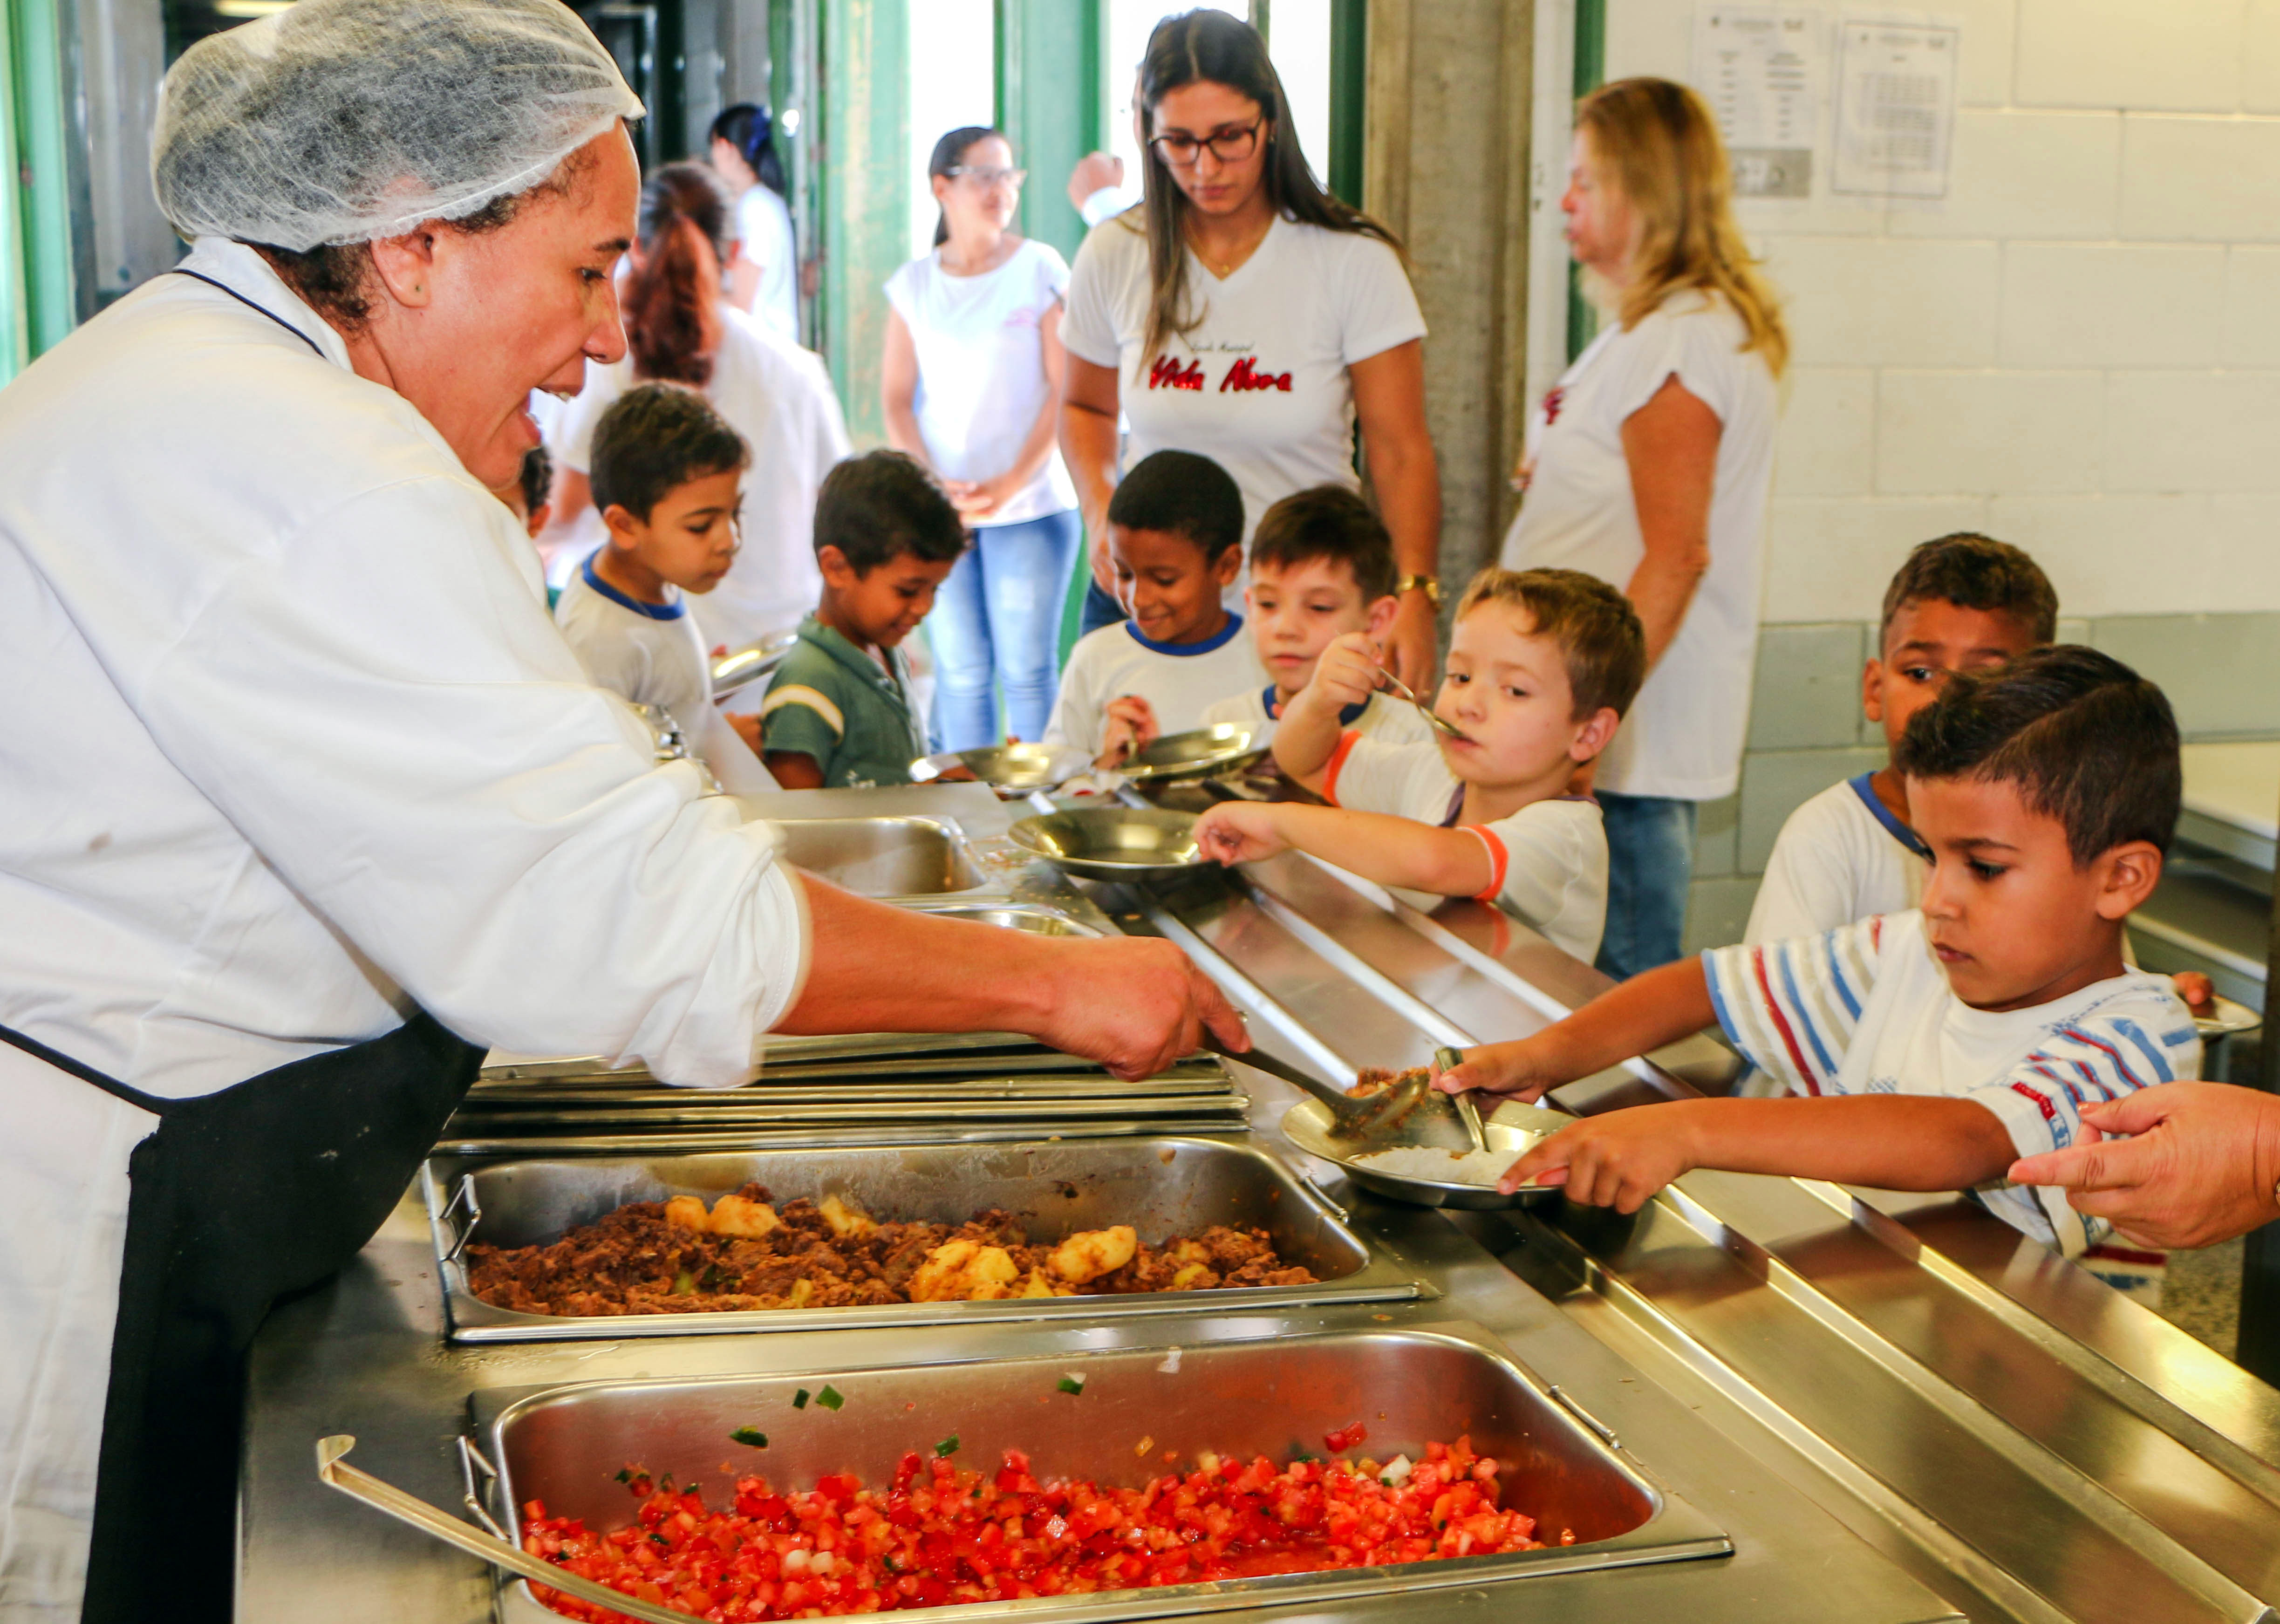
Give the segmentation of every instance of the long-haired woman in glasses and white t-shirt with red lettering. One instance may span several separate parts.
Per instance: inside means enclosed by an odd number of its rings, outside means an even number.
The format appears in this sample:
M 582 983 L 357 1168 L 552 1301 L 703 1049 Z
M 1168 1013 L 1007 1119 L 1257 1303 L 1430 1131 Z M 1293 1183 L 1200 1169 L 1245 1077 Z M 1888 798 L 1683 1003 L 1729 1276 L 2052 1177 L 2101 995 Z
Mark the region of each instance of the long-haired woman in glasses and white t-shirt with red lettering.
M 1354 424 L 1400 566 L 1386 664 L 1434 677 L 1441 486 L 1425 317 L 1393 233 L 1306 169 L 1265 41 L 1224 11 L 1165 18 L 1140 64 L 1142 205 L 1085 237 L 1069 278 L 1060 452 L 1092 536 L 1085 630 L 1110 625 L 1108 497 L 1124 461 L 1211 456 L 1249 527 L 1311 486 L 1357 488 Z

